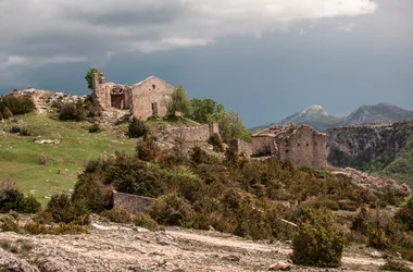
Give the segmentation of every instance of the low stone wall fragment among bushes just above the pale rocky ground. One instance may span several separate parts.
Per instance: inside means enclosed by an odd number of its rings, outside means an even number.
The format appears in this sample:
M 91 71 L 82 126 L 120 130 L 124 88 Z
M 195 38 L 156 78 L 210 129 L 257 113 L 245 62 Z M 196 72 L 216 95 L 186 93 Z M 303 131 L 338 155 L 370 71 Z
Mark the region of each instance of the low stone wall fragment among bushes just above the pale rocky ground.
M 122 208 L 130 213 L 149 212 L 154 199 L 124 193 L 113 191 L 113 207 Z

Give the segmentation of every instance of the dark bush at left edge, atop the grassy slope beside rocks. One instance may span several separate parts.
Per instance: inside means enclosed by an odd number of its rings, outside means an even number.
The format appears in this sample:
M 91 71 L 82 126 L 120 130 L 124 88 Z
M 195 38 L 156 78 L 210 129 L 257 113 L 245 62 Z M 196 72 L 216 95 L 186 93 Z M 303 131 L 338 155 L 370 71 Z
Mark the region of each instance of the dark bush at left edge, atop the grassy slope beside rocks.
M 8 119 L 4 111 L 8 110 L 9 118 L 11 115 L 20 115 L 33 112 L 35 110 L 35 103 L 29 97 L 17 97 L 8 95 L 0 97 L 0 111 L 3 113 L 3 118 Z

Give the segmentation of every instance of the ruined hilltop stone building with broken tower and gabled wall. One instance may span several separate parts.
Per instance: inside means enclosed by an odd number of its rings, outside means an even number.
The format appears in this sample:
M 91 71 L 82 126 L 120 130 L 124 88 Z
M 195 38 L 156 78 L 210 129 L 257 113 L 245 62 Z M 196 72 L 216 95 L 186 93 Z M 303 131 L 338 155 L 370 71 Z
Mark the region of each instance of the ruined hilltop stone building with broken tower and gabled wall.
M 152 115 L 166 115 L 166 102 L 174 90 L 174 86 L 157 76 L 127 86 L 105 83 L 104 74 L 97 73 L 91 97 L 103 110 L 130 110 L 134 116 L 146 121 Z

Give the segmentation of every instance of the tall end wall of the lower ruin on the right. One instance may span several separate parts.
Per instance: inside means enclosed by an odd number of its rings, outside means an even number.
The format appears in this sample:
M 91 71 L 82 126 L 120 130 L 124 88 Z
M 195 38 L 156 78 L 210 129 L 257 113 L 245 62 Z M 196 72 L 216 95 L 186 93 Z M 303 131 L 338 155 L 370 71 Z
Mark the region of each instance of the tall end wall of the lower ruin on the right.
M 311 126 L 301 125 L 290 134 L 276 138 L 278 159 L 290 161 L 298 168 L 327 168 L 326 135 Z

